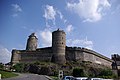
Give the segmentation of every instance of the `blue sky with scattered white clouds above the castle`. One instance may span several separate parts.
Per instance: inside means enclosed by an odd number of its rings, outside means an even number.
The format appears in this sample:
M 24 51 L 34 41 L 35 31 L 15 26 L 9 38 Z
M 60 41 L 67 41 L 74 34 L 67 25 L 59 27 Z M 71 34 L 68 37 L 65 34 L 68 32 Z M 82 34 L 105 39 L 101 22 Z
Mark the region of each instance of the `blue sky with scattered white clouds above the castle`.
M 33 32 L 38 48 L 50 47 L 58 28 L 66 46 L 120 54 L 120 0 L 0 0 L 0 62 L 10 62 L 12 49 L 25 50 Z

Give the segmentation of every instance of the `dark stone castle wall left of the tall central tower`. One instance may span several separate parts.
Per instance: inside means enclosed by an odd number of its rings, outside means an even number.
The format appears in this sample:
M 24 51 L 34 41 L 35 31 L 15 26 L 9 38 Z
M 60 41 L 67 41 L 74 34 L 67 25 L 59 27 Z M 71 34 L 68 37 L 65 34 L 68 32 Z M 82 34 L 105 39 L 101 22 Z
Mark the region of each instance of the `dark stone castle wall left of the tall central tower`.
M 32 63 L 36 61 L 51 61 L 51 48 L 41 48 L 36 51 L 16 50 L 12 51 L 12 63 Z

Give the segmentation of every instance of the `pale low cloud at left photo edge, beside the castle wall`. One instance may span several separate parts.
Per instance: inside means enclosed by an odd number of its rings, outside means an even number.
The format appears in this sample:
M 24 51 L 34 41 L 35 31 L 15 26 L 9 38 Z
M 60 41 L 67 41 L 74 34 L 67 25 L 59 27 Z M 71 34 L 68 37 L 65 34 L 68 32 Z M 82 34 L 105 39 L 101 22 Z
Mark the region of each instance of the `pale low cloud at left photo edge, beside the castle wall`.
M 7 48 L 0 46 L 0 62 L 8 63 L 11 59 L 11 52 Z

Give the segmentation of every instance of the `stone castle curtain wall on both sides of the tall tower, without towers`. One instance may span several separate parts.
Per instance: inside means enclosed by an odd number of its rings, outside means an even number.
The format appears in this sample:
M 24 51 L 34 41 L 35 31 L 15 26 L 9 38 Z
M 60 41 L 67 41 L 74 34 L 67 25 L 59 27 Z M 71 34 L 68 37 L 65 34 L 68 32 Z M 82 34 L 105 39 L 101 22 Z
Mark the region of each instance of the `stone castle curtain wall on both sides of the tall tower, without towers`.
M 91 50 L 90 50 L 91 51 Z M 36 62 L 36 61 L 48 61 L 50 62 L 53 56 L 52 47 L 39 48 L 36 51 L 15 50 L 13 51 L 13 63 L 19 62 Z M 65 58 L 67 61 L 89 61 L 105 65 L 111 68 L 112 60 L 100 55 L 99 53 L 89 52 L 85 48 L 66 47 Z

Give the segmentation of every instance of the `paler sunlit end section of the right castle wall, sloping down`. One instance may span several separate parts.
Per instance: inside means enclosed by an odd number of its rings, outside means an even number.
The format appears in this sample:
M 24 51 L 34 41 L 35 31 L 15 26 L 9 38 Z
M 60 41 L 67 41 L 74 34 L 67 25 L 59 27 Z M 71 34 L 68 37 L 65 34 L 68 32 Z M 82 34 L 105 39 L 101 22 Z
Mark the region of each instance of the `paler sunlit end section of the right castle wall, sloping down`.
M 113 60 L 109 59 L 108 57 L 105 57 L 93 50 L 89 50 L 86 48 L 83 48 L 83 54 L 84 54 L 84 61 L 91 61 L 93 63 L 110 66 L 113 62 Z

